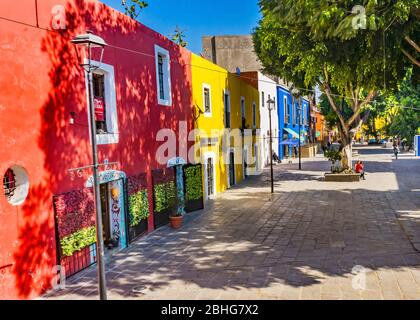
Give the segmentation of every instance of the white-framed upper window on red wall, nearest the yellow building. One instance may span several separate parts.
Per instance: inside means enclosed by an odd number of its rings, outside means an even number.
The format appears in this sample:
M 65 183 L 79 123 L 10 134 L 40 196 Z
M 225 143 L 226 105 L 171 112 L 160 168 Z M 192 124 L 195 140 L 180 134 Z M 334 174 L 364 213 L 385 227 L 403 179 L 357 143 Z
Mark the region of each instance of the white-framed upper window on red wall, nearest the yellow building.
M 159 46 L 155 46 L 155 56 L 158 103 L 170 106 L 172 104 L 172 95 L 169 52 Z

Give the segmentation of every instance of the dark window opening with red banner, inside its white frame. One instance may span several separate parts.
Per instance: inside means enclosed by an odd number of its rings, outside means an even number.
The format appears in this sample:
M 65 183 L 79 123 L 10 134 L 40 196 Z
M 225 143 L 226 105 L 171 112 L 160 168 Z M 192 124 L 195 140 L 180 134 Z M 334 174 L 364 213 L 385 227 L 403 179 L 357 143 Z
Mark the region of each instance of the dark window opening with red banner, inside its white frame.
M 96 133 L 107 133 L 104 74 L 93 74 L 93 96 L 95 104 Z

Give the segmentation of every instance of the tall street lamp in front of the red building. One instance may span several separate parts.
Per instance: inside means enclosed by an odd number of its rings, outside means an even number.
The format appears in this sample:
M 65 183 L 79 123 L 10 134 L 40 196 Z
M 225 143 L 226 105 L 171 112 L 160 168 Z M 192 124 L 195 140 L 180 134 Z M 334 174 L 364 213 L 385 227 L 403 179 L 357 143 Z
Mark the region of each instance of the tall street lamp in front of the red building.
M 95 195 L 95 209 L 96 209 L 96 246 L 97 246 L 97 267 L 98 267 L 98 283 L 99 296 L 101 300 L 107 300 L 106 293 L 106 278 L 105 278 L 105 264 L 104 264 L 104 239 L 102 228 L 102 209 L 101 209 L 101 192 L 99 185 L 99 162 L 98 162 L 98 148 L 96 142 L 96 121 L 95 121 L 95 107 L 93 102 L 93 84 L 92 71 L 99 68 L 99 66 L 92 66 L 92 49 L 100 50 L 100 63 L 102 63 L 105 47 L 107 46 L 104 39 L 94 35 L 91 31 L 85 34 L 77 35 L 71 40 L 75 45 L 77 56 L 83 59 L 80 63 L 88 77 L 88 92 L 89 92 L 89 123 L 90 123 L 90 137 L 92 143 L 92 159 L 93 159 L 93 185 Z M 85 58 L 87 57 L 87 58 Z

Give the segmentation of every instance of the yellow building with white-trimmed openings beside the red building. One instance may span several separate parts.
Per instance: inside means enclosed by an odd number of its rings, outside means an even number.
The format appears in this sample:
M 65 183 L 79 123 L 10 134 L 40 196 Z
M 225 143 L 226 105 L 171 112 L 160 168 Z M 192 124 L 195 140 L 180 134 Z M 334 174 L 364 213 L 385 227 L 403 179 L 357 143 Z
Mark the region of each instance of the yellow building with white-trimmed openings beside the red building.
M 258 160 L 253 161 L 259 159 L 255 157 L 259 154 L 255 146 L 259 93 L 237 75 L 195 54 L 191 71 L 196 161 L 203 164 L 204 197 L 209 199 L 241 182 L 245 167 L 248 175 L 254 174 L 256 165 L 259 167 Z M 241 131 L 244 125 L 249 129 L 245 139 Z

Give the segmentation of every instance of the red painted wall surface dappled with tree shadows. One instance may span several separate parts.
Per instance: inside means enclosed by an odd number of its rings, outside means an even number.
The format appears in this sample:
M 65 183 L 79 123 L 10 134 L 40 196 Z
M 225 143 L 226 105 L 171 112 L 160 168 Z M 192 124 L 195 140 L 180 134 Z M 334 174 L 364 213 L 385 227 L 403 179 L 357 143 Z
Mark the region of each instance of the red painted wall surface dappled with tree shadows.
M 100 161 L 119 162 L 127 176 L 151 170 L 160 128 L 193 128 L 190 53 L 164 36 L 92 0 L 0 1 L 0 175 L 12 165 L 29 173 L 26 201 L 0 194 L 0 299 L 32 298 L 50 287 L 56 264 L 52 196 L 83 188 L 68 169 L 91 163 L 83 71 L 70 40 L 90 29 L 108 44 L 114 66 L 120 140 L 99 146 Z M 67 29 L 51 30 L 53 6 L 66 8 Z M 13 20 L 13 21 L 12 21 Z M 159 106 L 154 45 L 171 56 L 172 107 Z M 75 124 L 69 120 L 76 113 Z M 149 221 L 152 229 L 153 220 Z

